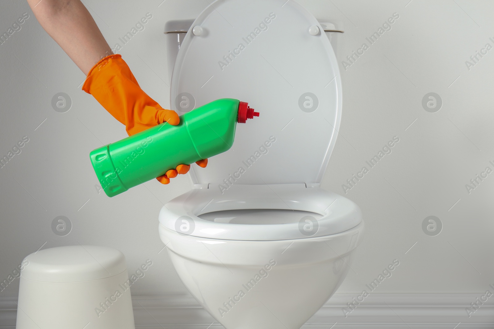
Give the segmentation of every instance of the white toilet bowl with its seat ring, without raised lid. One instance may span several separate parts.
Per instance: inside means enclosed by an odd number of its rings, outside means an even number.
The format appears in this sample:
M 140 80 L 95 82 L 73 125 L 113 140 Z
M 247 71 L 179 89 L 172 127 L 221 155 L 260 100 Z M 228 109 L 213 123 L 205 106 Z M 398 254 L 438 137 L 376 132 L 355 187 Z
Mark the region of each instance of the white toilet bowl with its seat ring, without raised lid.
M 363 229 L 352 201 L 297 184 L 194 189 L 159 225 L 182 282 L 227 329 L 300 328 L 341 284 Z

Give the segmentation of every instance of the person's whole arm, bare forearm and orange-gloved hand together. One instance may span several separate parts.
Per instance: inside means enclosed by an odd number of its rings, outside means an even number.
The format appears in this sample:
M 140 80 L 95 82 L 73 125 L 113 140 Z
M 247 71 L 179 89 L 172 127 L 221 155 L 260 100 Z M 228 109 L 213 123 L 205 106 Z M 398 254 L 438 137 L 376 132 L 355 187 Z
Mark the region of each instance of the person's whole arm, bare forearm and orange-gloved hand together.
M 163 109 L 135 80 L 127 64 L 112 49 L 81 0 L 27 0 L 41 27 L 52 37 L 87 76 L 82 90 L 93 97 L 117 120 L 129 135 L 163 122 L 177 125 L 175 111 Z M 105 58 L 98 70 L 91 69 Z M 114 77 L 118 75 L 119 78 Z M 109 92 L 118 90 L 119 92 Z M 206 167 L 207 159 L 196 162 Z M 189 165 L 178 165 L 158 177 L 163 184 L 178 173 L 186 174 Z

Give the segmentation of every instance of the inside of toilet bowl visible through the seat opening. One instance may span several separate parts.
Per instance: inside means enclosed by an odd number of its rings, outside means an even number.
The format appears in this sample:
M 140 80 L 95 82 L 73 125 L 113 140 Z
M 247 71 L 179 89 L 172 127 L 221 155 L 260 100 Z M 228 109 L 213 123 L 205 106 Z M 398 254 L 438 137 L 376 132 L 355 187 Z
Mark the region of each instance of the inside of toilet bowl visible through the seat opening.
M 306 216 L 320 219 L 321 214 L 290 209 L 236 209 L 222 210 L 198 215 L 201 219 L 230 224 L 288 224 L 297 223 Z

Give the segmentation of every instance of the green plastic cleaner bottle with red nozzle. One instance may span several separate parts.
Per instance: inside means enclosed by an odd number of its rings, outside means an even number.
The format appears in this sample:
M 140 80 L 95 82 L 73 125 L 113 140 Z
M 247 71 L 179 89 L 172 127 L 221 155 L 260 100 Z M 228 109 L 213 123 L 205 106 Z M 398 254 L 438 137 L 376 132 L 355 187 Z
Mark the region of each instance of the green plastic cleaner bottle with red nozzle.
M 191 164 L 230 149 L 237 122 L 259 116 L 245 102 L 223 98 L 121 141 L 93 150 L 89 157 L 109 197 L 165 175 L 179 164 Z

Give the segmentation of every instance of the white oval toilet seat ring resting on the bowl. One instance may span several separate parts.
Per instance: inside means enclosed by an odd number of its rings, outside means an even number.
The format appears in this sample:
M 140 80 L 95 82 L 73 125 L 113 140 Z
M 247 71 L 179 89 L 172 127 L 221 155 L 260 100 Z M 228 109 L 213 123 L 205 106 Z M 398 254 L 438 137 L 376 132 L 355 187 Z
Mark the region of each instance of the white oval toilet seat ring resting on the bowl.
M 201 219 L 223 210 L 300 210 L 322 215 L 285 224 L 238 224 Z M 216 189 L 193 189 L 171 200 L 160 212 L 160 223 L 182 235 L 245 241 L 304 239 L 337 234 L 362 222 L 360 208 L 349 199 L 305 184 L 234 185 L 224 195 Z M 312 230 L 304 230 L 304 225 Z M 306 226 L 307 227 L 307 226 Z

